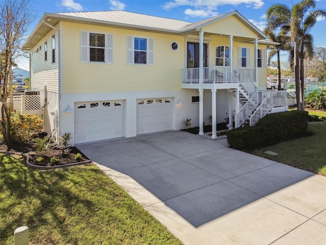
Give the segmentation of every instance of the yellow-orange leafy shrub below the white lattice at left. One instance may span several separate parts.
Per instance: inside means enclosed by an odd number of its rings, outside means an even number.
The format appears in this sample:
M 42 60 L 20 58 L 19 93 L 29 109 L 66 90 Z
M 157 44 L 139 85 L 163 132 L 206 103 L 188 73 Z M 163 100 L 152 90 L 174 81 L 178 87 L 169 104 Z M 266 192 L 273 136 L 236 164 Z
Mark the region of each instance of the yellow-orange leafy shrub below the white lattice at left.
M 11 115 L 10 136 L 16 142 L 29 142 L 41 132 L 43 120 L 38 115 L 21 115 L 20 112 Z

